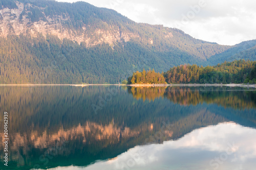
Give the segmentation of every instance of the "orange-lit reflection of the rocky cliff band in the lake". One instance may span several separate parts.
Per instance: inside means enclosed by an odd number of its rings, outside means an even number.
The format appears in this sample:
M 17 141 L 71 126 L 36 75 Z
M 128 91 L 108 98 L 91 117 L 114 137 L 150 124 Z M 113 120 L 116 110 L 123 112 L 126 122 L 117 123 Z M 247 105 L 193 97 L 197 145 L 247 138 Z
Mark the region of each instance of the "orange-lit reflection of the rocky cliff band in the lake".
M 128 127 L 121 129 L 120 127 L 115 127 L 113 124 L 102 126 L 87 122 L 85 126 L 78 125 L 68 130 L 61 128 L 57 133 L 49 133 L 47 130 L 42 134 L 33 130 L 24 134 L 15 133 L 11 135 L 13 143 L 11 149 L 18 151 L 19 148 L 23 148 L 23 153 L 26 153 L 28 143 L 30 143 L 32 148 L 44 149 L 49 145 L 53 145 L 55 141 L 76 140 L 77 138 L 82 138 L 82 143 L 86 143 L 87 140 L 89 140 L 89 142 L 110 140 L 110 143 L 116 143 L 119 142 L 121 137 L 130 138 L 138 136 L 138 134 L 138 131 L 131 131 Z M 3 133 L 0 133 L 0 138 L 4 138 Z

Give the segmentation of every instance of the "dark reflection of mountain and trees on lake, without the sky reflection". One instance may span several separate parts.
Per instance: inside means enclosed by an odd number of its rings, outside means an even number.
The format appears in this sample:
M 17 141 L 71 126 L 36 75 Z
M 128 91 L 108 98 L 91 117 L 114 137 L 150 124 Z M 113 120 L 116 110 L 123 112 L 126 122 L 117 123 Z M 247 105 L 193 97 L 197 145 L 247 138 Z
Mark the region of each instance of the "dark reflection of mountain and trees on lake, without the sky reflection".
M 114 91 L 112 100 L 100 105 L 110 90 Z M 143 91 L 145 93 L 139 94 Z M 216 105 L 218 100 L 214 100 L 218 95 L 225 98 L 237 96 L 242 104 L 244 100 L 254 106 L 251 92 L 221 89 L 216 92 L 211 88 L 186 87 L 129 89 L 129 92 L 143 96 L 142 99 L 149 95 L 148 99 L 152 101 L 135 100 L 120 87 L 1 88 L 0 103 L 4 108 L 1 107 L 0 111 L 8 111 L 10 116 L 10 165 L 13 169 L 29 169 L 35 164 L 40 168 L 72 164 L 85 166 L 99 159 L 116 157 L 135 145 L 144 144 L 148 138 L 152 139 L 150 136 L 154 140 L 148 142 L 161 143 L 178 139 L 194 129 L 228 121 L 256 127 L 253 107 L 244 110 L 225 108 Z M 162 96 L 163 99 L 159 98 Z M 166 96 L 176 102 L 170 102 Z M 200 96 L 195 100 L 207 101 L 210 98 L 209 101 L 215 102 L 191 105 L 193 96 Z M 188 102 L 181 104 L 186 98 Z M 101 107 L 97 114 L 92 104 Z M 163 127 L 163 122 L 169 122 L 171 128 Z M 0 132 L 3 132 L 2 124 Z M 156 134 L 159 132 L 158 138 Z M 3 133 L 0 133 L 0 139 L 3 139 Z M 57 150 L 54 156 L 52 150 Z M 1 156 L 2 151 L 3 143 L 0 144 Z M 51 159 L 46 163 L 44 158 L 48 156 Z

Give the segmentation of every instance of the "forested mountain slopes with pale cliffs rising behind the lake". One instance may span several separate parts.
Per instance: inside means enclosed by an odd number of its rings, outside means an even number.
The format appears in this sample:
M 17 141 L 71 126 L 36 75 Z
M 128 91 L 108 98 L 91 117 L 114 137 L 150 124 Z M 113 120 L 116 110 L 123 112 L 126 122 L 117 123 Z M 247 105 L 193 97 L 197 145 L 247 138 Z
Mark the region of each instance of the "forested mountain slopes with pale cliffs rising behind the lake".
M 0 84 L 118 83 L 143 68 L 255 60 L 249 42 L 206 42 L 84 2 L 0 0 Z

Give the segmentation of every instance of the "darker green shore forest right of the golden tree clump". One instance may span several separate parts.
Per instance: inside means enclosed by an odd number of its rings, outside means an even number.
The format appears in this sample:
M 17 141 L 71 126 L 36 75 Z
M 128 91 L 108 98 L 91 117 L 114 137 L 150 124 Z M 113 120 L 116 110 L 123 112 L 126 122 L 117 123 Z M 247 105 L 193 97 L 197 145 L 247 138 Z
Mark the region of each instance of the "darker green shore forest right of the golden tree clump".
M 216 66 L 180 65 L 164 73 L 167 83 L 243 83 L 255 61 L 236 60 Z M 256 82 L 255 82 L 256 83 Z

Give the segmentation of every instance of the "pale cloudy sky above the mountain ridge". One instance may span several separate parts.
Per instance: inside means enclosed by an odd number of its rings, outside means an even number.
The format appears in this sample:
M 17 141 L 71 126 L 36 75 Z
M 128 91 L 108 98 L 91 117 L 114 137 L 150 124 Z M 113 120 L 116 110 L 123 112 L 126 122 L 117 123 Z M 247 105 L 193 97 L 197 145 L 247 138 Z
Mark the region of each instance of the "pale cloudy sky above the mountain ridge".
M 77 2 L 77 0 L 57 0 Z M 128 18 L 178 28 L 192 37 L 234 45 L 256 39 L 255 0 L 80 0 Z

